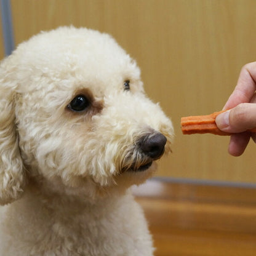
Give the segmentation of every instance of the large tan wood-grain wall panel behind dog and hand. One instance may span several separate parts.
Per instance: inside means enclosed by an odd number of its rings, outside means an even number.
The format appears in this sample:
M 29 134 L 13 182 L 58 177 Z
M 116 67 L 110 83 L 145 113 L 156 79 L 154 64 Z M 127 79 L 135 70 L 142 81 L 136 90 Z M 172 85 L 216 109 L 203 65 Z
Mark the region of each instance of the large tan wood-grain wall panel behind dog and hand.
M 180 118 L 221 110 L 242 65 L 256 60 L 254 0 L 12 0 L 16 42 L 60 25 L 113 34 L 137 59 L 150 98 L 172 117 L 173 153 L 158 175 L 256 182 L 255 145 L 234 158 L 228 138 L 182 135 Z

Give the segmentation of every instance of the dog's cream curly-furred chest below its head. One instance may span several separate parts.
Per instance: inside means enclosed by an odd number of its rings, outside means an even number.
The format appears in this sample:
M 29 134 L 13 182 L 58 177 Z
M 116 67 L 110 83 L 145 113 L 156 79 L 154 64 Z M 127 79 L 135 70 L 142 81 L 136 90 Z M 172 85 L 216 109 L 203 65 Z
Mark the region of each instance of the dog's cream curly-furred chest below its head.
M 33 214 L 30 209 L 30 215 L 20 212 L 18 216 L 14 206 L 18 204 L 10 205 L 12 209 L 5 213 L 12 215 L 12 222 L 2 223 L 1 248 L 5 252 L 0 256 L 153 255 L 142 210 L 130 196 L 62 214 L 37 206 Z M 19 210 L 23 209 L 24 204 Z M 8 247 L 9 243 L 13 246 Z

